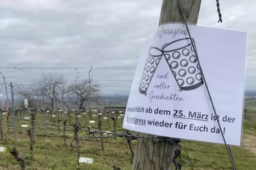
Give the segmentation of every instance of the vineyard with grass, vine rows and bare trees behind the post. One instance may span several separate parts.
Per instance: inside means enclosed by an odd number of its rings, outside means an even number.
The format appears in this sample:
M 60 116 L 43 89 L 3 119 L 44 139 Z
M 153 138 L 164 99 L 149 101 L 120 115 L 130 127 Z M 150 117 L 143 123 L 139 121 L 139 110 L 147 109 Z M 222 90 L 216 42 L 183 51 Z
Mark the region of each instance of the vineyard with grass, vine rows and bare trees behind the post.
M 102 101 L 100 86 L 77 77 L 67 84 L 63 76 L 52 74 L 29 86 L 17 84 L 10 89 L 5 84 L 6 95 L 11 92 L 12 99 L 16 94 L 21 101 L 15 105 L 8 102 L 7 106 L 15 106 L 9 111 L 1 108 L 0 147 L 4 149 L 0 152 L 0 169 L 131 170 L 136 140 L 120 134 L 138 133 L 122 129 L 125 100 L 104 97 Z M 244 110 L 243 145 L 231 147 L 239 170 L 250 169 L 256 162 L 256 107 L 252 103 L 245 102 L 250 107 Z M 101 133 L 89 133 L 98 130 Z M 185 170 L 232 168 L 223 145 L 183 140 L 181 157 L 178 161 Z

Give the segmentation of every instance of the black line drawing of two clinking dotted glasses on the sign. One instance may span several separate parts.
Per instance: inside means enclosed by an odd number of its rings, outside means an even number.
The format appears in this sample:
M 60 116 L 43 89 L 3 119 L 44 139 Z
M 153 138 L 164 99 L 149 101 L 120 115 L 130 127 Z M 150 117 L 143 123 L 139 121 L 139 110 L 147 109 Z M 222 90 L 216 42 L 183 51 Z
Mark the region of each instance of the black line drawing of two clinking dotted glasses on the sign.
M 147 95 L 147 89 L 160 60 L 166 60 L 168 63 L 180 91 L 194 90 L 203 85 L 192 43 L 196 49 L 193 38 L 192 41 L 190 38 L 182 38 L 166 43 L 161 49 L 151 46 L 140 80 L 139 92 Z

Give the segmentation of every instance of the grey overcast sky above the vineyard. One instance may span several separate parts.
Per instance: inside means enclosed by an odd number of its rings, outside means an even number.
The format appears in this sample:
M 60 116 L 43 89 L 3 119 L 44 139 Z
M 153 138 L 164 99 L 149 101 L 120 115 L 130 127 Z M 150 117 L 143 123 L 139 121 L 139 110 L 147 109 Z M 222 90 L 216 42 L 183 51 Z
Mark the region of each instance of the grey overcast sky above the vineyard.
M 1 0 L 0 67 L 136 67 L 143 42 L 158 26 L 161 3 L 162 0 Z M 220 8 L 223 23 L 218 23 L 216 1 L 202 0 L 198 24 L 249 32 L 246 89 L 256 89 L 256 1 L 225 0 L 220 2 Z M 40 78 L 42 71 L 63 73 L 70 81 L 75 75 L 88 78 L 88 70 L 1 71 L 7 83 L 25 85 Z M 92 70 L 93 79 L 106 86 L 104 93 L 115 93 L 117 89 L 119 94 L 130 90 L 134 72 L 135 69 Z

